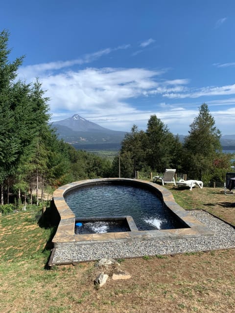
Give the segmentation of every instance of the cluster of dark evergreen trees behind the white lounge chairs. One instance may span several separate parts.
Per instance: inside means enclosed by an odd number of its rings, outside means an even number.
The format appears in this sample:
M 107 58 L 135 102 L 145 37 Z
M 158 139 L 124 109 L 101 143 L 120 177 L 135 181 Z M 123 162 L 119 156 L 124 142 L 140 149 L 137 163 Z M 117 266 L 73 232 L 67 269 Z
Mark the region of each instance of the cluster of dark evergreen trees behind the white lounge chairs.
M 177 173 L 187 174 L 188 179 L 203 180 L 205 185 L 222 182 L 226 172 L 231 171 L 232 155 L 222 153 L 220 136 L 205 103 L 183 143 L 152 115 L 145 132 L 134 125 L 125 135 L 113 171 L 117 175 L 120 168 L 121 177 L 135 177 L 137 171 L 164 173 L 166 168 L 174 168 Z

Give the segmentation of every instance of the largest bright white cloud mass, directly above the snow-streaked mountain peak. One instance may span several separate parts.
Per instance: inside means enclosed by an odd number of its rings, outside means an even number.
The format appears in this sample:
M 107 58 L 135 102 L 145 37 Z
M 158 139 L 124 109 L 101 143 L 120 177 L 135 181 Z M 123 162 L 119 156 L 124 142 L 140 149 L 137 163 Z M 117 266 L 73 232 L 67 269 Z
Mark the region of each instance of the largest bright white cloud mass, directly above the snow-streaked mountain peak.
M 86 68 L 40 77 L 47 96 L 51 99 L 52 112 L 67 109 L 109 114 L 134 112 L 126 103 L 157 87 L 155 76 L 162 71 L 143 68 Z

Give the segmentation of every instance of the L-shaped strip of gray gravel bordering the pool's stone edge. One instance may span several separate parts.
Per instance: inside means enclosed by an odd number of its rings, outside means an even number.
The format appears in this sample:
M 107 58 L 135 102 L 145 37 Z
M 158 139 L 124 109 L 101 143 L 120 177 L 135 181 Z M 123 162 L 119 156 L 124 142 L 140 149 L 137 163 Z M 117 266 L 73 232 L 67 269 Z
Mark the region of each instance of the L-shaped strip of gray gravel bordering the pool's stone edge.
M 101 258 L 131 258 L 144 255 L 175 254 L 196 251 L 208 251 L 235 247 L 235 229 L 201 211 L 188 211 L 212 231 L 213 236 L 200 236 L 185 239 L 151 239 L 132 240 L 131 242 L 111 242 L 92 245 L 75 245 L 56 247 L 52 264 L 76 263 Z

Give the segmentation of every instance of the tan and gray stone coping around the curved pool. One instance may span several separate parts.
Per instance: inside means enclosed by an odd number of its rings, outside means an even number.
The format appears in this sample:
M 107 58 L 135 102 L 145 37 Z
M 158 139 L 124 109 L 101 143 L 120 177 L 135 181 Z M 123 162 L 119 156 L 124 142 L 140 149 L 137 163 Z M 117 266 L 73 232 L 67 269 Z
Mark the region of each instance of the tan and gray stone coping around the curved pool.
M 128 232 L 114 232 L 102 234 L 75 234 L 75 214 L 65 201 L 64 195 L 81 186 L 95 185 L 104 182 L 120 182 L 133 183 L 137 188 L 145 187 L 154 190 L 158 196 L 164 201 L 166 207 L 172 214 L 185 225 L 184 228 L 176 229 L 159 229 L 159 230 L 132 230 Z M 122 179 L 122 178 L 106 178 L 106 179 L 86 179 L 71 182 L 61 186 L 53 193 L 53 207 L 55 215 L 58 217 L 58 227 L 52 239 L 54 247 L 79 244 L 93 244 L 98 242 L 112 241 L 131 241 L 132 239 L 148 240 L 148 239 L 165 239 L 165 238 L 186 238 L 197 236 L 211 236 L 214 232 L 207 226 L 196 220 L 188 214 L 179 204 L 174 201 L 172 193 L 166 188 L 141 179 Z

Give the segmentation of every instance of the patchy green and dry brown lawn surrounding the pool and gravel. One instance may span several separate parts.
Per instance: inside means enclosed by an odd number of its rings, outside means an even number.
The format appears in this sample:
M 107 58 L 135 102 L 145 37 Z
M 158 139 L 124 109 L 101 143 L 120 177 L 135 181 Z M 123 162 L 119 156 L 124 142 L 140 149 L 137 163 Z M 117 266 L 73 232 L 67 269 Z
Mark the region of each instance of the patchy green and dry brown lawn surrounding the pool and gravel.
M 205 209 L 235 225 L 235 196 L 222 188 L 167 187 L 186 209 Z M 0 312 L 235 312 L 235 249 L 121 261 L 131 279 L 94 288 L 94 262 L 48 270 L 53 228 L 40 212 L 0 217 Z M 40 225 L 40 226 L 39 226 Z

